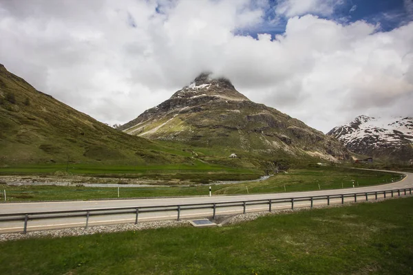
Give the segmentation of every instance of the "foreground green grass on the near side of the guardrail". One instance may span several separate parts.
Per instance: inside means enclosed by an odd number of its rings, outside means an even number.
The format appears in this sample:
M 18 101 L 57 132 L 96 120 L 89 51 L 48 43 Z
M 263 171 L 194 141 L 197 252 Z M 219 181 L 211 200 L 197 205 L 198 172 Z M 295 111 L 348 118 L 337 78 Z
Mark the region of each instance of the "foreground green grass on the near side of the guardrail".
M 413 198 L 0 245 L 0 274 L 412 274 Z

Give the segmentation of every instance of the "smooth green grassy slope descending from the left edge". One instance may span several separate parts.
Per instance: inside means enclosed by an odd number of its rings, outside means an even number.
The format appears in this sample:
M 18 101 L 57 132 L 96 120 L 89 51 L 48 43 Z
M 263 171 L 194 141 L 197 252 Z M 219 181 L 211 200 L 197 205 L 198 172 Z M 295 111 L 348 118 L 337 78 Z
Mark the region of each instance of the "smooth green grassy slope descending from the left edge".
M 0 65 L 0 164 L 184 162 L 170 148 L 127 135 L 37 91 Z M 166 153 L 165 151 L 172 151 Z

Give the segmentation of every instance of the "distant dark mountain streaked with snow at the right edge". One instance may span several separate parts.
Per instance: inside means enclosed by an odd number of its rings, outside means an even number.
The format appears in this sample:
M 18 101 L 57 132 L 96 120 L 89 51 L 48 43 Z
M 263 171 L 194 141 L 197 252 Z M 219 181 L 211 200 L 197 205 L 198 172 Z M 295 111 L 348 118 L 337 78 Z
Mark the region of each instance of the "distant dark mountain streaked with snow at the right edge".
M 327 134 L 336 137 L 354 153 L 399 160 L 413 158 L 413 118 L 359 115 Z

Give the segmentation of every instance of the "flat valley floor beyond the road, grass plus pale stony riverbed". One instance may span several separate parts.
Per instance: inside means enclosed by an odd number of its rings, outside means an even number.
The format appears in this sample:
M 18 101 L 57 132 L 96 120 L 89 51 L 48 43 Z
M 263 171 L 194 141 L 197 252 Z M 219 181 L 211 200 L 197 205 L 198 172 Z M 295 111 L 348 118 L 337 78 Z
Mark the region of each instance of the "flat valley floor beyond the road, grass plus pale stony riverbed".
M 267 192 L 298 192 L 372 186 L 401 179 L 401 175 L 375 170 L 349 168 L 308 168 L 288 170 L 263 181 L 241 181 L 232 184 L 196 183 L 198 174 L 185 174 L 189 179 L 149 180 L 81 176 L 0 176 L 0 190 L 6 191 L 7 201 L 59 201 L 86 199 L 116 199 L 118 187 L 103 187 L 118 184 L 119 198 L 206 196 L 209 186 L 213 195 L 258 194 Z M 209 173 L 202 177 L 208 178 Z M 162 175 L 160 175 L 162 177 Z M 168 175 L 173 177 L 173 175 Z M 240 178 L 242 179 L 242 177 Z M 55 185 L 41 185 L 41 183 Z M 25 185 L 25 184 L 32 185 Z M 85 183 L 99 187 L 85 186 Z M 63 184 L 65 186 L 61 186 Z M 131 187 L 140 184 L 141 187 Z M 149 186 L 148 186 L 149 184 Z M 3 201 L 4 202 L 4 201 Z

